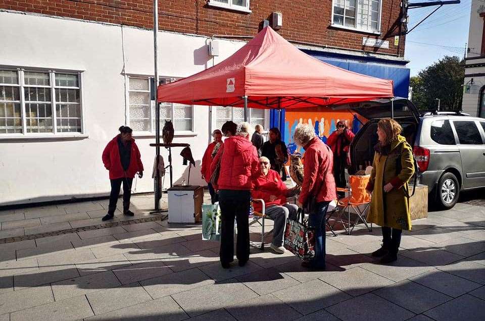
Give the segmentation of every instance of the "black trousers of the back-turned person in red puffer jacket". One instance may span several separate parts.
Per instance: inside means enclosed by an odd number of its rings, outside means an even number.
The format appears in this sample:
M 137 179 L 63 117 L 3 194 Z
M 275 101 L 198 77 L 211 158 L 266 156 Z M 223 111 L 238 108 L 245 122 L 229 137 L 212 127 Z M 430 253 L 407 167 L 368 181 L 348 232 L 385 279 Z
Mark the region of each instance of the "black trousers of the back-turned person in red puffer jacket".
M 236 257 L 243 262 L 249 259 L 250 201 L 250 191 L 219 190 L 222 222 L 219 257 L 222 263 L 234 260 L 234 218 L 237 223 Z

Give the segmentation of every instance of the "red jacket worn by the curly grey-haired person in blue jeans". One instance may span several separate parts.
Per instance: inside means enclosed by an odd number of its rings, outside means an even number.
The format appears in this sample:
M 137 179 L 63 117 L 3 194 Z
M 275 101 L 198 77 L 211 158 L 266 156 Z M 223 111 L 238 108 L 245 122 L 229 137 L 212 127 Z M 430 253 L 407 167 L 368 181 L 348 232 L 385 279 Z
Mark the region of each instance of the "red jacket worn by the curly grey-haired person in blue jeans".
M 337 198 L 335 179 L 333 178 L 333 154 L 330 147 L 318 137 L 312 138 L 304 147 L 303 184 L 300 203 L 305 204 L 309 195 L 315 195 L 317 202 L 332 201 Z

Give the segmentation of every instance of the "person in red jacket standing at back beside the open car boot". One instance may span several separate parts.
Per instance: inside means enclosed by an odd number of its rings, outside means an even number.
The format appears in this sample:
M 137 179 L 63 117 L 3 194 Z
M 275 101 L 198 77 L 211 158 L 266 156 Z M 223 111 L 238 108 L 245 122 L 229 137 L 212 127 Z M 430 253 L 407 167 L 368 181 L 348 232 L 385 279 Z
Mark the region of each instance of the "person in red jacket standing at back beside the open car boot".
M 337 129 L 328 137 L 327 145 L 333 152 L 333 178 L 337 187 L 346 187 L 345 168 L 347 167 L 347 152 L 354 139 L 354 133 L 347 127 L 345 121 L 337 123 Z

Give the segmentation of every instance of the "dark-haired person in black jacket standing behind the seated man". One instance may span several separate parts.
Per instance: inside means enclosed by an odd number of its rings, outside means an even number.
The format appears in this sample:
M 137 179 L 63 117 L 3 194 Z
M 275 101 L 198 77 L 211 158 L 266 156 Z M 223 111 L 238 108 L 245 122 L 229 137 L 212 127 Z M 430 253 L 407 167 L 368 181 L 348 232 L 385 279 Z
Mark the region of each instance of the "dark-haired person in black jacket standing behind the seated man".
M 284 165 L 288 162 L 288 150 L 286 144 L 281 140 L 281 133 L 276 127 L 269 130 L 269 140 L 263 144 L 261 155 L 269 159 L 271 169 L 281 175 L 283 181 L 286 180 Z

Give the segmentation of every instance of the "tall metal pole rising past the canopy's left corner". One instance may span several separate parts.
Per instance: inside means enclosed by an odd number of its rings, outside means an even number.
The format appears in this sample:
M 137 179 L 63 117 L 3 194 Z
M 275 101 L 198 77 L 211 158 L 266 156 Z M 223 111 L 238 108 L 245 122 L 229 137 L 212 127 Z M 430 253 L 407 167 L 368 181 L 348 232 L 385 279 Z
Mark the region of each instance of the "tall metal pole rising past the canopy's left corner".
M 158 158 L 160 156 L 160 106 L 158 104 L 158 0 L 153 0 L 153 53 L 154 53 L 154 68 L 155 68 L 155 157 L 157 159 L 157 171 L 155 175 L 155 210 L 160 209 L 160 172 L 158 171 Z M 172 172 L 170 171 L 170 176 Z

